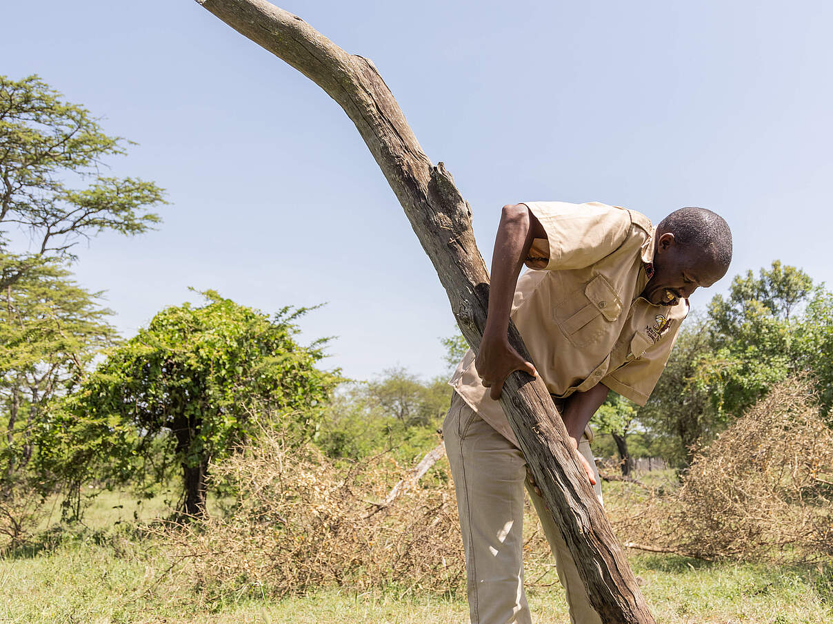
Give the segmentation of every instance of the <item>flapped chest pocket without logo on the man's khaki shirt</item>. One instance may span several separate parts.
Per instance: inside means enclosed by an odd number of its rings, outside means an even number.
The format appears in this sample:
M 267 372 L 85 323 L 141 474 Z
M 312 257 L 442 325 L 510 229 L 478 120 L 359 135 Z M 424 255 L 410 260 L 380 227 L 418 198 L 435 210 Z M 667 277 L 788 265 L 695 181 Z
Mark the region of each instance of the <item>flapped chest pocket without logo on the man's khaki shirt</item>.
M 555 309 L 555 319 L 566 338 L 583 347 L 609 333 L 621 311 L 616 290 L 604 275 L 596 275 L 583 289 L 566 295 L 563 305 Z

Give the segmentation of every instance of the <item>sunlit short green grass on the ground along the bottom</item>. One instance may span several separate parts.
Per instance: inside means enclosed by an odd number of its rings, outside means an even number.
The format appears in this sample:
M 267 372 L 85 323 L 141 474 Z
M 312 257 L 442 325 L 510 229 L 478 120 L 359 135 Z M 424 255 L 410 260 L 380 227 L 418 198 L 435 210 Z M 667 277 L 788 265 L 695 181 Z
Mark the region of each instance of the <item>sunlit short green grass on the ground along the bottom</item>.
M 157 542 L 135 530 L 134 512 L 165 515 L 164 496 L 137 505 L 102 493 L 86 526 L 53 526 L 39 542 L 0 559 L 2 624 L 440 624 L 467 622 L 464 596 L 322 588 L 281 601 L 247 596 L 208 600 L 177 575 Z M 631 566 L 661 624 L 826 624 L 833 622 L 833 566 L 706 563 L 636 554 Z M 531 580 L 531 577 L 530 577 Z M 529 590 L 533 621 L 567 622 L 555 573 Z M 545 587 L 550 585 L 550 587 Z

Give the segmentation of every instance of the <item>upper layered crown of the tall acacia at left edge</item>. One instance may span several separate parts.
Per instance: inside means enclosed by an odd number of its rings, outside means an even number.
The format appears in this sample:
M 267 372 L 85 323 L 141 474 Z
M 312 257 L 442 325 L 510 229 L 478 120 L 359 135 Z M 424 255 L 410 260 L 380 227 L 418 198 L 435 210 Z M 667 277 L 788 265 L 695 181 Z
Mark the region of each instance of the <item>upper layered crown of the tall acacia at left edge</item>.
M 108 136 L 83 106 L 66 102 L 37 76 L 0 76 L 0 288 L 102 230 L 124 235 L 159 221 L 163 191 L 135 177 L 102 176 L 128 141 Z M 12 254 L 10 234 L 31 250 Z

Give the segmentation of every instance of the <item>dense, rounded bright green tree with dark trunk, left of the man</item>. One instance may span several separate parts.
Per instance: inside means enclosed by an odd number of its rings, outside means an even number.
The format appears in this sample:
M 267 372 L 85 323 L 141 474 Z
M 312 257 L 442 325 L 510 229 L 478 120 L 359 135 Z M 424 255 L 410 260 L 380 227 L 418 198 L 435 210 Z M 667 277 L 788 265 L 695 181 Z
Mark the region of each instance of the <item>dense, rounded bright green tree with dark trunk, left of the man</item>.
M 230 453 L 259 418 L 274 414 L 302 437 L 314 432 L 315 408 L 338 378 L 315 366 L 326 340 L 303 347 L 294 339 L 293 321 L 307 309 L 269 318 L 213 291 L 203 295 L 206 305 L 158 313 L 56 410 L 45 432 L 57 449 L 51 467 L 73 492 L 104 467 L 122 481 L 141 476 L 135 458 L 148 458 L 162 436 L 182 468 L 182 511 L 202 515 L 208 463 Z

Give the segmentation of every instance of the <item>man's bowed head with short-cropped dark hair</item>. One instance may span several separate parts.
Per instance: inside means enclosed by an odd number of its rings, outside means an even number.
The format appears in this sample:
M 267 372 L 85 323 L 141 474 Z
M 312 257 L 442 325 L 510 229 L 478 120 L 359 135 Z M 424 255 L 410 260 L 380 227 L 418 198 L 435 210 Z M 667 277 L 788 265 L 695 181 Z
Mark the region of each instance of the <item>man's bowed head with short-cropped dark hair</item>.
M 726 275 L 731 231 L 726 220 L 705 208 L 675 210 L 656 226 L 654 274 L 642 296 L 655 305 L 677 305 L 698 287 Z

